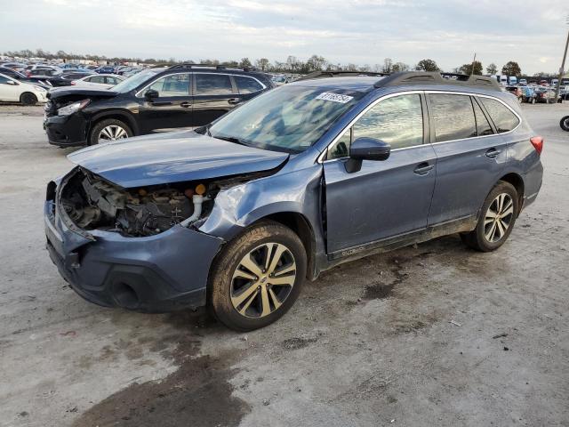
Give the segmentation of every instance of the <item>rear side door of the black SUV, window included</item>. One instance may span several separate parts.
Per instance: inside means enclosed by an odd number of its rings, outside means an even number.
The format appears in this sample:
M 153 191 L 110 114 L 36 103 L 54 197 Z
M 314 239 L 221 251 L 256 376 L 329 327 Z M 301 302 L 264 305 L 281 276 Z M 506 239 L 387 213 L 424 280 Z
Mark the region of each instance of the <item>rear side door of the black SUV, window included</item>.
M 239 102 L 236 85 L 228 74 L 194 74 L 193 126 L 211 123 Z

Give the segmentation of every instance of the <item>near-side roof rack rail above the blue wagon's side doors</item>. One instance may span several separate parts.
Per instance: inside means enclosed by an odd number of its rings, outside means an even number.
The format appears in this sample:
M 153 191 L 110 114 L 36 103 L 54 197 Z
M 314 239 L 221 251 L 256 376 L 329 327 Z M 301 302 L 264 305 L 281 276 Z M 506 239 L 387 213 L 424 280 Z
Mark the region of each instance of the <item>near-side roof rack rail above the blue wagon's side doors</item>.
M 453 78 L 454 77 L 454 78 Z M 377 81 L 374 87 L 398 85 L 462 85 L 484 86 L 485 89 L 500 91 L 498 81 L 492 77 L 428 71 L 404 71 L 394 73 Z

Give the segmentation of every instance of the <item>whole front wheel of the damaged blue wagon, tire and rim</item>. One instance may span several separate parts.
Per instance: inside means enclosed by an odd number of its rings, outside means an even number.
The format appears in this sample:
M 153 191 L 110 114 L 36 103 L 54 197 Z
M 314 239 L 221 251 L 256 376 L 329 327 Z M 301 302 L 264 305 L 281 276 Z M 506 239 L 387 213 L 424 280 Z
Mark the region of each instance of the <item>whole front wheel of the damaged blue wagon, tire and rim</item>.
M 296 233 L 278 222 L 260 222 L 229 242 L 213 263 L 210 308 L 236 331 L 268 326 L 293 306 L 306 269 Z

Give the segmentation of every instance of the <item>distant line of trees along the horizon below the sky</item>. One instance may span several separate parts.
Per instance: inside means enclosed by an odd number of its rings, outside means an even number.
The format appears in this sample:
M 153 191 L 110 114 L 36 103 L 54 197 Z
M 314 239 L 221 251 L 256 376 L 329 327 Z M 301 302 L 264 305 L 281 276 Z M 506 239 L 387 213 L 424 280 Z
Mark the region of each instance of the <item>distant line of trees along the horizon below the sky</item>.
M 158 58 L 127 58 L 127 57 L 107 57 L 104 55 L 88 55 L 88 54 L 77 54 L 65 51 L 57 52 L 47 52 L 43 49 L 36 49 L 36 51 L 31 51 L 29 49 L 24 49 L 21 51 L 9 51 L 4 52 L 5 56 L 18 57 L 18 58 L 44 58 L 46 60 L 93 60 L 97 62 L 106 62 L 108 64 L 120 64 L 124 62 L 136 62 L 144 64 L 166 64 L 173 65 L 177 63 L 200 63 L 200 64 L 212 64 L 221 65 L 226 67 L 239 67 L 239 68 L 259 68 L 262 71 L 272 72 L 272 73 L 293 73 L 293 74 L 308 74 L 312 71 L 362 71 L 362 72 L 375 72 L 375 73 L 395 73 L 398 71 L 442 71 L 438 67 L 435 60 L 424 59 L 420 60 L 413 66 L 405 64 L 405 62 L 394 62 L 390 58 L 385 58 L 382 63 L 376 64 L 364 64 L 357 65 L 354 63 L 341 64 L 333 63 L 326 60 L 323 56 L 312 55 L 308 60 L 301 60 L 296 56 L 289 55 L 286 60 L 279 61 L 275 60 L 271 62 L 267 58 L 260 58 L 257 60 L 250 60 L 249 58 L 242 58 L 241 60 L 212 60 L 212 59 L 202 59 L 198 61 L 194 60 L 176 60 L 170 58 L 168 60 L 158 59 Z M 485 68 L 485 73 L 483 73 L 484 68 L 482 62 L 475 60 L 468 64 L 463 64 L 461 67 L 453 68 L 453 73 L 457 74 L 503 74 L 508 76 L 521 76 L 522 70 L 519 64 L 514 60 L 509 60 L 502 68 L 501 73 L 499 73 L 500 68 L 496 64 L 491 63 Z M 548 73 L 537 73 L 535 77 L 549 76 Z

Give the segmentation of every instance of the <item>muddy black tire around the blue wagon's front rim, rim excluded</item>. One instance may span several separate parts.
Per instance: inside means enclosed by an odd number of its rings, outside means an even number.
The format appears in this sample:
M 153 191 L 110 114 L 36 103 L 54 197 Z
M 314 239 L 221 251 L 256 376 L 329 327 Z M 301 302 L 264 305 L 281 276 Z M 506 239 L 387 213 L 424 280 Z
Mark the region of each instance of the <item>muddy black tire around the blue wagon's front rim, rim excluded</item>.
M 293 289 L 283 305 L 264 318 L 245 318 L 233 307 L 230 300 L 230 286 L 233 272 L 254 247 L 264 243 L 280 243 L 286 246 L 296 262 L 296 279 Z M 301 239 L 278 222 L 264 222 L 245 230 L 228 243 L 213 262 L 208 289 L 208 302 L 212 312 L 221 323 L 236 331 L 244 332 L 268 326 L 293 306 L 301 293 L 306 278 L 307 256 Z

